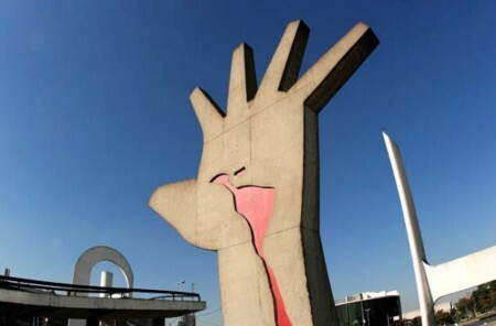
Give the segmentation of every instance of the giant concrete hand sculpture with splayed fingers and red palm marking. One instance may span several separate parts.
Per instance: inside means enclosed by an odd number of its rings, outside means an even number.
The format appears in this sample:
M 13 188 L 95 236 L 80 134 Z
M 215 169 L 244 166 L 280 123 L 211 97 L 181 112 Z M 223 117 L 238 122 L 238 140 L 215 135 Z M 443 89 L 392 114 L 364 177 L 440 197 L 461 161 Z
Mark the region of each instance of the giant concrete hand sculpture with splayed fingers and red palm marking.
M 225 325 L 337 325 L 319 232 L 317 113 L 378 44 L 358 23 L 298 79 L 309 28 L 288 25 L 257 89 L 251 48 L 233 54 L 227 113 L 202 89 L 196 180 L 150 206 L 218 252 Z

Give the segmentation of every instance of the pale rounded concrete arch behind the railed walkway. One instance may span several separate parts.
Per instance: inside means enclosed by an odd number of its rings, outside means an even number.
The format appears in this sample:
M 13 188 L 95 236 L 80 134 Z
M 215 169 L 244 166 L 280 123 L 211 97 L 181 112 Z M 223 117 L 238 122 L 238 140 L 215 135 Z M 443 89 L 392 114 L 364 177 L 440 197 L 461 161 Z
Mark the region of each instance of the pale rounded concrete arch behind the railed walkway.
M 134 275 L 128 260 L 116 249 L 106 246 L 96 246 L 83 252 L 74 267 L 73 284 L 89 285 L 91 270 L 101 261 L 115 263 L 122 271 L 128 287 L 132 289 Z M 78 295 L 86 294 L 78 293 Z

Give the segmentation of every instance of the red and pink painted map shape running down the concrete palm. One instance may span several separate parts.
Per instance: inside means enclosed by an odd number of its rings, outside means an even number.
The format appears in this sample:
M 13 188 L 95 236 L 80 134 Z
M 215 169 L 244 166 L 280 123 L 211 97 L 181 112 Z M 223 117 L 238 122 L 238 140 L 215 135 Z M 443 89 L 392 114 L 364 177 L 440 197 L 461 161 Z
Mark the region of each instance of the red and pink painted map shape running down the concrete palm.
M 260 186 L 242 186 L 238 188 L 230 184 L 227 174 L 220 174 L 212 182 L 224 185 L 233 193 L 236 211 L 242 215 L 248 221 L 254 235 L 255 251 L 262 260 L 269 276 L 270 290 L 276 308 L 276 324 L 278 326 L 291 326 L 291 320 L 285 312 L 276 275 L 263 256 L 263 238 L 272 218 L 276 189 Z

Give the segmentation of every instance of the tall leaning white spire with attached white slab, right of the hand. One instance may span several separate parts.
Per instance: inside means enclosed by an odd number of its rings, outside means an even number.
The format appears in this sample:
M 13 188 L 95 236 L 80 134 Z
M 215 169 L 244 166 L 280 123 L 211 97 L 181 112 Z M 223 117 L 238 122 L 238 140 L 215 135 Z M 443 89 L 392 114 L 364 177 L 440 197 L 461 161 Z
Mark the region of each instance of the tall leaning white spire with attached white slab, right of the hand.
M 395 174 L 396 186 L 403 211 L 408 242 L 416 273 L 422 325 L 434 326 L 434 303 L 442 296 L 456 293 L 496 279 L 496 246 L 438 264 L 429 264 L 422 233 L 407 173 L 398 145 L 382 132 Z

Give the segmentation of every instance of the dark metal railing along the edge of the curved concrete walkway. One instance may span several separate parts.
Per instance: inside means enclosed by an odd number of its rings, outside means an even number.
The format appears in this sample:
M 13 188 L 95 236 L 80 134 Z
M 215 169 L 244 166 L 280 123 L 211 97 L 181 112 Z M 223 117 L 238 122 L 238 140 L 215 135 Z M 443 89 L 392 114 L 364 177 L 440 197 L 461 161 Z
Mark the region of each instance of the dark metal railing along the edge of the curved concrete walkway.
M 31 293 L 43 293 L 53 295 L 78 296 L 79 293 L 106 294 L 106 297 L 119 295 L 120 298 L 141 298 L 141 300 L 169 300 L 169 301 L 202 301 L 198 293 L 152 290 L 152 289 L 129 289 L 129 287 L 106 287 L 94 285 L 79 285 L 68 283 L 46 282 L 39 280 L 11 278 L 0 275 L 0 289 L 24 291 Z M 148 294 L 151 297 L 136 297 L 134 294 Z

